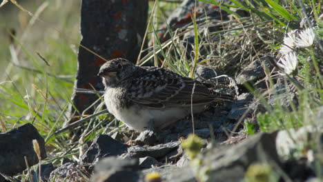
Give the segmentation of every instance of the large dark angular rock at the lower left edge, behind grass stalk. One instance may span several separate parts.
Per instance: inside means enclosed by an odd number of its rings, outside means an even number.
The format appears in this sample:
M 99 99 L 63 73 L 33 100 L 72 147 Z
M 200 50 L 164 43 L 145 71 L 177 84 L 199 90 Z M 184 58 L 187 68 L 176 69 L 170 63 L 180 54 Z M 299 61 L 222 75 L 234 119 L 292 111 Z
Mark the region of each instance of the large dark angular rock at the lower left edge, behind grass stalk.
M 46 159 L 45 141 L 30 123 L 0 133 L 0 172 L 12 176 L 26 170 L 24 156 L 28 165 L 37 164 L 38 157 L 34 151 L 32 140 L 36 139 L 41 151 L 41 159 Z M 1 179 L 0 179 L 1 181 Z

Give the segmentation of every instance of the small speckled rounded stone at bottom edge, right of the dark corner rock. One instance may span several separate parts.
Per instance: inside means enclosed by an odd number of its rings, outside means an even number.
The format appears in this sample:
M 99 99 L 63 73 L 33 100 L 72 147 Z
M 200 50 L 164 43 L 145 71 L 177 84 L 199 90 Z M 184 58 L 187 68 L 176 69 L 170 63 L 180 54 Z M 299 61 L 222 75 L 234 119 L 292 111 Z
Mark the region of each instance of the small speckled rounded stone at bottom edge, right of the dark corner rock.
M 50 182 L 88 181 L 88 171 L 77 163 L 65 163 L 50 172 Z

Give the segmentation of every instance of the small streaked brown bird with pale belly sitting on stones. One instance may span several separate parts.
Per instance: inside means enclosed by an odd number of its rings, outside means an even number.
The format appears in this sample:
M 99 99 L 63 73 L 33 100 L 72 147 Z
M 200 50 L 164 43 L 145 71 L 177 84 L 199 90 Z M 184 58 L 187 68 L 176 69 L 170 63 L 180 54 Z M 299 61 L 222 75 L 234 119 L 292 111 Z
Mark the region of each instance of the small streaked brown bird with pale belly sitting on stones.
M 146 130 L 150 121 L 155 129 L 164 128 L 189 115 L 191 106 L 198 113 L 212 102 L 232 99 L 170 70 L 136 66 L 126 59 L 104 63 L 97 75 L 105 86 L 108 112 L 137 131 Z

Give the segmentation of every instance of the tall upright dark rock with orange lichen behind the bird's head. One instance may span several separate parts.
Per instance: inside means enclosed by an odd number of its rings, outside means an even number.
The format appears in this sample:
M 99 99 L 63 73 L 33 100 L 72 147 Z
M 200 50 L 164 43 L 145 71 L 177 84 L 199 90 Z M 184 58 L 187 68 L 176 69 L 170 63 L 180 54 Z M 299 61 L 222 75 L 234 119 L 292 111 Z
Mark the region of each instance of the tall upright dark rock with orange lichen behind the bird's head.
M 118 57 L 130 61 L 137 59 L 146 32 L 148 0 L 83 0 L 80 10 L 81 45 L 107 60 Z M 85 88 L 90 83 L 95 90 L 104 90 L 101 79 L 96 75 L 106 61 L 84 47 L 80 46 L 77 54 L 77 77 L 69 109 L 71 121 L 85 110 L 86 114 L 92 114 L 95 111 L 92 104 L 99 99 L 97 94 L 77 93 L 76 88 Z

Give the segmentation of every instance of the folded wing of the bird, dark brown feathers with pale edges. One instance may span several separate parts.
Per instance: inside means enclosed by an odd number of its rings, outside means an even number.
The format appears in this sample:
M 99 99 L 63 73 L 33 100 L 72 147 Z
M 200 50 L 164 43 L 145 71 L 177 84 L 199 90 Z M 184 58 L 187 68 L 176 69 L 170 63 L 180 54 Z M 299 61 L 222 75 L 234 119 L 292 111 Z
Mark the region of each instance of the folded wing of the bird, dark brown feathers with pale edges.
M 137 79 L 128 79 L 126 97 L 148 108 L 206 105 L 218 97 L 201 82 L 164 68 L 150 68 Z M 192 97 L 193 92 L 193 97 Z

